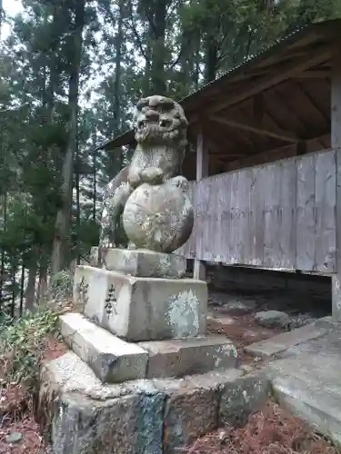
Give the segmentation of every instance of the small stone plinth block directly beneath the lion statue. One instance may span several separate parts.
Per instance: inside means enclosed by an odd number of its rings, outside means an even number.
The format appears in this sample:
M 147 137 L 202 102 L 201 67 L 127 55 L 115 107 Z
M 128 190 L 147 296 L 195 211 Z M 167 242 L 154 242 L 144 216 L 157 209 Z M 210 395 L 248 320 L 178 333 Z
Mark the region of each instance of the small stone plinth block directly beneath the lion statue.
M 98 248 L 92 248 L 91 253 L 98 262 Z M 101 262 L 105 270 L 141 278 L 180 279 L 186 273 L 186 258 L 175 253 L 108 248 L 102 250 Z

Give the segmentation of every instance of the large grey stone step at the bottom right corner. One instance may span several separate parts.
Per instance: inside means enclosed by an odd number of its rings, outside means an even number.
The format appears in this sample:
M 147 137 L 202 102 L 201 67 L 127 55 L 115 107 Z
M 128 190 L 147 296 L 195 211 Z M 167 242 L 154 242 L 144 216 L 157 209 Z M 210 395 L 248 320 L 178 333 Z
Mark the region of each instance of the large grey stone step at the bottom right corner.
M 306 354 L 268 366 L 276 400 L 341 444 L 341 354 Z

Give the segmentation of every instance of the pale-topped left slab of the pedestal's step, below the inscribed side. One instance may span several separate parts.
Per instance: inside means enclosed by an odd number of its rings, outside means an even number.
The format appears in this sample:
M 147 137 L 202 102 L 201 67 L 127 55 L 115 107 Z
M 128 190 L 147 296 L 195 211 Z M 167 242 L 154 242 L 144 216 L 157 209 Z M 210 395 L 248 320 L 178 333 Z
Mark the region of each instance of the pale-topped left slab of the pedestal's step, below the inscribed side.
M 60 318 L 65 342 L 104 382 L 144 379 L 148 353 L 96 326 L 79 313 Z

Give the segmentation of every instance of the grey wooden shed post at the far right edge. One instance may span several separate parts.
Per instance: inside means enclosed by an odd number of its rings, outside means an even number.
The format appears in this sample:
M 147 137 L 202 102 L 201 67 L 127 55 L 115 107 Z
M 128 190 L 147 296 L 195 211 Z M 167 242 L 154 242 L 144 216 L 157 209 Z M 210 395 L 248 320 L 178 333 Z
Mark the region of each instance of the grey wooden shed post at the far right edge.
M 336 273 L 332 275 L 332 316 L 341 321 L 341 47 L 332 60 L 331 145 L 336 153 Z

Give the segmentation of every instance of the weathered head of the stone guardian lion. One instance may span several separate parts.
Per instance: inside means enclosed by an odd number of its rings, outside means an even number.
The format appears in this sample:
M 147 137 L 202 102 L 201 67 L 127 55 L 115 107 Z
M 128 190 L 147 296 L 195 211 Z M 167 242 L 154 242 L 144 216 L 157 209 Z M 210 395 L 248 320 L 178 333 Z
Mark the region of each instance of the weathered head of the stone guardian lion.
M 141 99 L 135 110 L 135 139 L 137 143 L 165 144 L 183 148 L 186 145 L 187 120 L 184 109 L 165 96 Z

